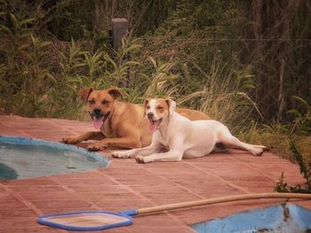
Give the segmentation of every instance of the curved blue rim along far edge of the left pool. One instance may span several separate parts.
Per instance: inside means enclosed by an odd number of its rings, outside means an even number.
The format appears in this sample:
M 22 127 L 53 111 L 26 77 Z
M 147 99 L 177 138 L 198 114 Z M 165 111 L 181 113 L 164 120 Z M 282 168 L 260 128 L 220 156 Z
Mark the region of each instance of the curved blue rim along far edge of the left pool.
M 100 155 L 98 153 L 87 151 L 84 148 L 77 147 L 76 145 L 71 144 L 61 144 L 57 142 L 49 142 L 41 139 L 36 139 L 32 137 L 26 136 L 3 136 L 0 135 L 0 143 L 4 144 L 21 144 L 21 145 L 40 145 L 48 148 L 59 149 L 59 150 L 68 150 L 74 151 L 85 156 L 91 157 L 92 159 L 96 159 L 100 163 L 103 163 L 105 167 L 108 167 L 110 161 L 104 155 Z

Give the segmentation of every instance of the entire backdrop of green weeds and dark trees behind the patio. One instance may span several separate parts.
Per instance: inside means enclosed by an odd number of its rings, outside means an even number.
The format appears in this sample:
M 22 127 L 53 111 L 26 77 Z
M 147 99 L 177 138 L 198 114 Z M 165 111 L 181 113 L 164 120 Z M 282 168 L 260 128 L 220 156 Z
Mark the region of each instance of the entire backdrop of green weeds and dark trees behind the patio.
M 117 86 L 311 158 L 310 12 L 296 0 L 0 0 L 0 113 L 85 120 L 78 91 Z M 118 17 L 131 33 L 114 51 Z

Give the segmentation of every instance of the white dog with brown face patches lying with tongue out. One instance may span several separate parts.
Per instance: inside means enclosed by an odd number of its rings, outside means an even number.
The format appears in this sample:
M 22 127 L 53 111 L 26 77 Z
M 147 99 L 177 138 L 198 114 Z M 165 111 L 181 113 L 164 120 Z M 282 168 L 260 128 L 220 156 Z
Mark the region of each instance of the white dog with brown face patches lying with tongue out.
M 138 162 L 148 163 L 202 157 L 211 153 L 216 144 L 250 151 L 258 156 L 266 149 L 263 145 L 239 141 L 217 120 L 191 121 L 176 113 L 175 108 L 176 103 L 171 99 L 146 100 L 145 113 L 153 132 L 152 143 L 145 148 L 115 151 L 113 156 L 129 158 L 136 155 Z

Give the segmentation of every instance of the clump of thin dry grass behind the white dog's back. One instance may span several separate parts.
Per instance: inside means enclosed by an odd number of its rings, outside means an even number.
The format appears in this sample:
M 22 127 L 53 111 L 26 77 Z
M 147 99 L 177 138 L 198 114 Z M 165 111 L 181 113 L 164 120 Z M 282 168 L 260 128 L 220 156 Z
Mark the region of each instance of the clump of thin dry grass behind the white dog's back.
M 197 109 L 209 114 L 212 119 L 231 125 L 231 130 L 244 127 L 249 124 L 253 113 L 261 116 L 249 95 L 255 88 L 254 75 L 248 69 L 235 71 L 232 64 L 223 66 L 217 54 L 214 56 L 213 66 L 208 73 L 197 66 L 205 80 L 203 89 L 180 97 L 180 102 L 196 105 Z

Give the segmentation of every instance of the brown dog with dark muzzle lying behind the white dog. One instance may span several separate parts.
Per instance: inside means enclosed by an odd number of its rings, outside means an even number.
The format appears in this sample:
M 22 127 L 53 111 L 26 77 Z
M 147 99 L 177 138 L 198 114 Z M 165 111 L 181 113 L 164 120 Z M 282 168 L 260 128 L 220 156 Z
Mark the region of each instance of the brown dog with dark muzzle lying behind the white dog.
M 87 147 L 89 151 L 107 148 L 133 149 L 148 146 L 152 133 L 148 130 L 148 120 L 144 117 L 144 107 L 118 101 L 122 97 L 119 89 L 106 90 L 83 89 L 81 97 L 87 103 L 94 128 L 100 131 L 84 133 L 81 136 L 63 138 L 66 144 L 77 144 L 86 140 L 100 140 Z M 177 112 L 189 120 L 207 120 L 204 113 L 190 109 L 178 109 Z

